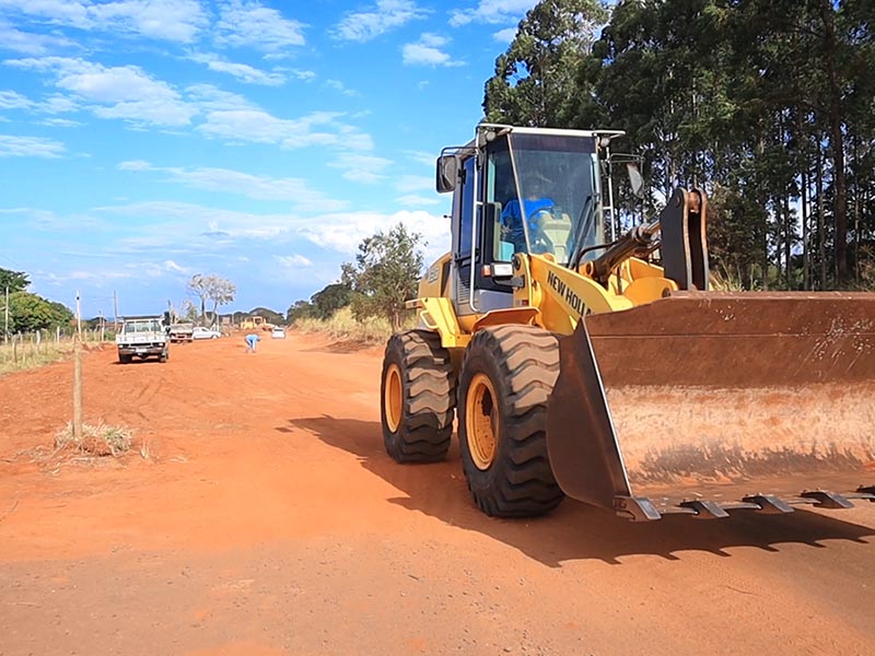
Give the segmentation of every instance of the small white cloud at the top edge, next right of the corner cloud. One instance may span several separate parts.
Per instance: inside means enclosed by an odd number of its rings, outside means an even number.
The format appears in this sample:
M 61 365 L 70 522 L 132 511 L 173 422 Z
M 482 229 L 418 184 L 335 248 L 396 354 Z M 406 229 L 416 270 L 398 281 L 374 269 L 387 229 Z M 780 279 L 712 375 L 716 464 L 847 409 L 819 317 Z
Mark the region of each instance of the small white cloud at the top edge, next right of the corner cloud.
M 233 47 L 252 47 L 283 55 L 303 46 L 303 23 L 283 17 L 276 9 L 254 0 L 228 0 L 220 7 L 217 40 Z

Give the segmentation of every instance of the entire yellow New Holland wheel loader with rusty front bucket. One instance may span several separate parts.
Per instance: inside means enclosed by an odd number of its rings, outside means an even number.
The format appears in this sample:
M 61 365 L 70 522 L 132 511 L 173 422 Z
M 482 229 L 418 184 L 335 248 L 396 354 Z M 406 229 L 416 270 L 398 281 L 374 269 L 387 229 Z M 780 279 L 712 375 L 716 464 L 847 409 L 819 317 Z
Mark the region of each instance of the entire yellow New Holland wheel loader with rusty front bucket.
M 875 294 L 709 291 L 699 190 L 606 236 L 619 134 L 481 124 L 442 151 L 452 248 L 386 345 L 388 454 L 444 458 L 457 417 L 501 517 L 565 495 L 632 520 L 875 501 Z

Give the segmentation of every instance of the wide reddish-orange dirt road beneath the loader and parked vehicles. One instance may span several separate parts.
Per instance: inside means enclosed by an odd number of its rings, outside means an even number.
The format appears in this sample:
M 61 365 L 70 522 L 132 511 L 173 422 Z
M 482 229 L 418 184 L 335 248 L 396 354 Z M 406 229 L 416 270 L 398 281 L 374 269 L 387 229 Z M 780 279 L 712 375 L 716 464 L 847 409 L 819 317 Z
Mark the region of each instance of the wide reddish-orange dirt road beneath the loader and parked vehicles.
M 96 464 L 33 450 L 69 419 L 70 363 L 0 378 L 0 654 L 875 654 L 875 504 L 489 519 L 457 447 L 385 455 L 380 358 L 92 351 L 86 421 L 138 441 Z

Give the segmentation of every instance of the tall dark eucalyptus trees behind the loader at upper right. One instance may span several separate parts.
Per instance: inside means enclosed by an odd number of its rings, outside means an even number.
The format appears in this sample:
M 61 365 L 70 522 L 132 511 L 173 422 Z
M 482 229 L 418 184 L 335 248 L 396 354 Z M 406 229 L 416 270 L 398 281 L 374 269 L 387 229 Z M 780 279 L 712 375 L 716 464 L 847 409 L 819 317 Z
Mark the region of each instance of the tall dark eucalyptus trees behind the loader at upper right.
M 655 188 L 709 192 L 714 259 L 746 288 L 875 284 L 875 2 L 626 0 L 605 16 L 536 5 L 487 118 L 626 130 Z

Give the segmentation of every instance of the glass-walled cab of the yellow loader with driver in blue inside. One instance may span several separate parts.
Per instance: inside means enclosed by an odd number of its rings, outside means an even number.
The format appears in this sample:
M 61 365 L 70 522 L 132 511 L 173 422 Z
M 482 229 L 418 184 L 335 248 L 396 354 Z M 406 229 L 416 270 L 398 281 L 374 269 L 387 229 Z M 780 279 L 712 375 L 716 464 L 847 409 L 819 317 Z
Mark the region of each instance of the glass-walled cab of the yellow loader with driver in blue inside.
M 515 253 L 569 266 L 603 244 L 599 133 L 478 126 L 474 141 L 444 149 L 438 191 L 454 192 L 454 305 L 459 315 L 510 307 Z

